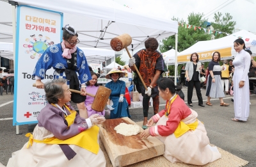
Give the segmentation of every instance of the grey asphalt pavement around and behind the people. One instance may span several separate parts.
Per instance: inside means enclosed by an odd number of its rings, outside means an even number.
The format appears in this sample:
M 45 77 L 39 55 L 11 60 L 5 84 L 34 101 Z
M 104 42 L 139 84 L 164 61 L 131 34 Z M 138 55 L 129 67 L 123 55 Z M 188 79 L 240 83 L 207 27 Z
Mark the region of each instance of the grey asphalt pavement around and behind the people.
M 182 89 L 187 94 L 186 88 Z M 4 92 L 5 93 L 5 92 Z M 202 90 L 204 103 L 206 101 L 205 90 Z M 225 102 L 230 106 L 221 107 L 218 99 L 211 100 L 213 106 L 198 106 L 197 97 L 194 90 L 192 107 L 198 113 L 198 119 L 204 122 L 209 139 L 216 145 L 231 154 L 237 155 L 249 161 L 247 166 L 256 166 L 256 95 L 250 96 L 250 117 L 247 122 L 233 122 L 230 118 L 234 117 L 234 105 L 230 101 L 231 96 L 225 97 Z M 13 95 L 0 96 L 0 163 L 6 165 L 12 152 L 22 148 L 28 138 L 24 136 L 28 132 L 28 125 L 20 125 L 21 135 L 15 134 L 16 127 L 12 126 Z M 185 98 L 186 101 L 186 98 Z M 159 109 L 164 108 L 165 102 L 161 100 Z M 143 120 L 142 108 L 130 108 L 131 119 L 134 122 Z M 153 115 L 153 108 L 150 107 L 149 117 Z

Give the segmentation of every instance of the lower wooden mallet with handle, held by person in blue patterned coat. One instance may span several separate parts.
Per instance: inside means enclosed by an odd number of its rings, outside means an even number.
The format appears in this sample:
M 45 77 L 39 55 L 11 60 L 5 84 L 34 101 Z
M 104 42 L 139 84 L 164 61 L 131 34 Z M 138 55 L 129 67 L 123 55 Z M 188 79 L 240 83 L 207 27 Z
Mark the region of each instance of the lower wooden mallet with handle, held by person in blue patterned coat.
M 33 86 L 36 86 L 34 83 Z M 72 93 L 84 93 L 83 91 L 79 90 L 72 90 L 69 89 Z M 109 88 L 106 88 L 104 86 L 99 86 L 99 89 L 96 93 L 96 95 L 92 95 L 91 93 L 86 93 L 86 95 L 90 97 L 94 97 L 93 103 L 92 103 L 92 109 L 98 112 L 102 112 L 106 106 L 106 103 L 108 102 L 108 97 L 111 93 L 111 90 Z

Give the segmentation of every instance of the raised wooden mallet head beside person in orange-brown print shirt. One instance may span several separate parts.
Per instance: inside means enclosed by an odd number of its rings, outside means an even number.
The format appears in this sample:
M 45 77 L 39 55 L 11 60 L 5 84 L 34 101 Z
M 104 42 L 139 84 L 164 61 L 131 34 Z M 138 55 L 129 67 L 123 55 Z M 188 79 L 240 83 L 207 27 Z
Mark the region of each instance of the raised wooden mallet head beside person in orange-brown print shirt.
M 132 38 L 129 34 L 116 36 L 110 41 L 110 45 L 114 51 L 121 51 L 125 47 L 132 44 Z

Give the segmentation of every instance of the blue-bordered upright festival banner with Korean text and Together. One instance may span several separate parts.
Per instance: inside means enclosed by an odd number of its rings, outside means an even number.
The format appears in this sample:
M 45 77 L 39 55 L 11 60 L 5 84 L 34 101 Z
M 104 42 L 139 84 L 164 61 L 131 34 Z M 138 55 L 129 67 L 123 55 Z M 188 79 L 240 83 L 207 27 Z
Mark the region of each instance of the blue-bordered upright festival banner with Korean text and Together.
M 47 47 L 60 43 L 62 27 L 63 13 L 18 6 L 13 125 L 36 123 L 36 117 L 47 104 L 44 90 L 32 86 L 32 74 Z M 44 82 L 49 79 L 53 79 L 52 68 L 47 70 Z

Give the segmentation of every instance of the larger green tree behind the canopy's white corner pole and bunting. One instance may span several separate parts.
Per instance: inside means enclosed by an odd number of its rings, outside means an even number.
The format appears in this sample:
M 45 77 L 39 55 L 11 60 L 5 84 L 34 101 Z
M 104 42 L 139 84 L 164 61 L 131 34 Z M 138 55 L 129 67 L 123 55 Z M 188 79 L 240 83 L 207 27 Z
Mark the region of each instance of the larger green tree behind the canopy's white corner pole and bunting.
M 190 13 L 188 16 L 188 23 L 184 20 L 179 20 L 179 18 L 174 18 L 172 20 L 177 20 L 180 22 L 180 26 L 178 29 L 178 52 L 184 51 L 194 45 L 198 41 L 211 40 L 211 35 L 205 33 L 205 31 L 194 29 L 193 25 L 204 25 L 203 23 L 207 21 L 203 19 L 203 13 Z M 182 24 L 184 27 L 182 27 Z M 191 25 L 191 28 L 185 28 L 186 24 Z M 204 28 L 204 27 L 202 27 Z M 160 51 L 166 52 L 170 49 L 175 49 L 175 36 L 169 36 L 162 40 L 160 44 Z M 196 51 L 195 51 L 196 52 Z

